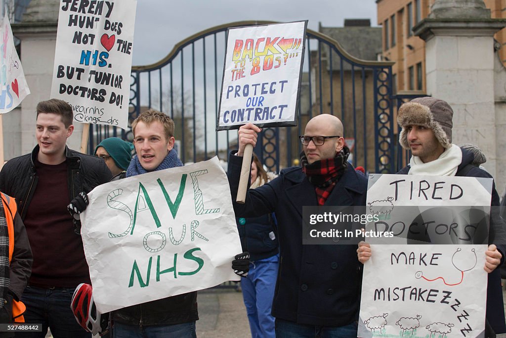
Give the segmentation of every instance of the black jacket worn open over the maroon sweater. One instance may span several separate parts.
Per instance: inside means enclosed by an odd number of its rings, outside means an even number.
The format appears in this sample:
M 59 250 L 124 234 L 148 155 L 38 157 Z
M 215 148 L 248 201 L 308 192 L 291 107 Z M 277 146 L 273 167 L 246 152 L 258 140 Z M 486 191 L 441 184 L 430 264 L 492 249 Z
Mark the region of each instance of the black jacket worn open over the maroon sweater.
M 21 219 L 26 216 L 26 206 L 30 204 L 37 186 L 34 160 L 38 152 L 39 146 L 36 145 L 31 154 L 9 160 L 0 172 L 0 191 L 16 199 Z M 68 164 L 69 201 L 80 192 L 89 193 L 97 185 L 107 183 L 112 178 L 105 161 L 96 156 L 81 154 L 68 147 L 65 147 L 65 156 Z

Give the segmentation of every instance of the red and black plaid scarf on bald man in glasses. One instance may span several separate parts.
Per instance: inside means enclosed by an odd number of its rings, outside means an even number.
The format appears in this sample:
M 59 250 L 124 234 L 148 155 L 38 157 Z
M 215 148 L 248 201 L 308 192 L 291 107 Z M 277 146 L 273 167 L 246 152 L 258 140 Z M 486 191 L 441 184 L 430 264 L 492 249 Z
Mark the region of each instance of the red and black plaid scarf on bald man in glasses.
M 341 152 L 332 159 L 308 163 L 304 152 L 301 153 L 302 172 L 306 174 L 308 180 L 315 185 L 316 199 L 318 205 L 325 204 L 328 196 L 334 189 L 335 183 L 343 176 L 348 167 L 348 156 L 350 149 L 345 145 Z

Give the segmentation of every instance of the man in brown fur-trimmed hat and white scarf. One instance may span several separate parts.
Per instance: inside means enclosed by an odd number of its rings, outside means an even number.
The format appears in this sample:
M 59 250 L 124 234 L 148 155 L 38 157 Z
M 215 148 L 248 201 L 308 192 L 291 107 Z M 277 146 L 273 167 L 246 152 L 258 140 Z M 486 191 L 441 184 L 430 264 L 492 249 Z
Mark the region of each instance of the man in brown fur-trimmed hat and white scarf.
M 434 97 L 419 97 L 404 103 L 397 114 L 402 127 L 399 143 L 411 151 L 409 165 L 398 174 L 431 176 L 489 177 L 490 174 L 473 165 L 474 154 L 451 143 L 453 110 Z M 499 195 L 492 183 L 491 206 L 499 205 Z M 492 244 L 495 243 L 495 244 Z M 484 270 L 488 273 L 486 336 L 506 332 L 499 269 L 506 253 L 506 232 L 497 212 L 490 217 L 489 246 L 485 252 Z M 363 263 L 371 256 L 369 244 L 359 243 L 358 258 Z

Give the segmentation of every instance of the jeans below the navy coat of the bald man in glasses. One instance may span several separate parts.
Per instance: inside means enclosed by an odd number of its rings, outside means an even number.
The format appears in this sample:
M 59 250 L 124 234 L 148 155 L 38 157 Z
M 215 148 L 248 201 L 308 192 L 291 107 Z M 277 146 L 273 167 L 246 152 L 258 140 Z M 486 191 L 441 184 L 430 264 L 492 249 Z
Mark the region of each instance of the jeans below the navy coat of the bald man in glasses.
M 345 326 L 304 325 L 276 318 L 276 338 L 356 338 L 357 323 Z

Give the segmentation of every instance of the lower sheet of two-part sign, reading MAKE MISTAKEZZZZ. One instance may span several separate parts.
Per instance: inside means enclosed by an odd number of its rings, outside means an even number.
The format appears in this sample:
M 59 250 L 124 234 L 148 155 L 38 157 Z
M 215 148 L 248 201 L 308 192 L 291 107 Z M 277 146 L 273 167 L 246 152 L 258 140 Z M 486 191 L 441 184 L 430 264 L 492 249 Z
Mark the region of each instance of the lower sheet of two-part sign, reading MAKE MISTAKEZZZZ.
M 486 245 L 375 245 L 359 337 L 476 337 L 485 329 Z

